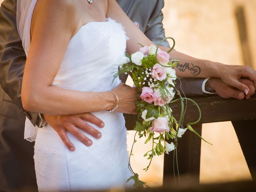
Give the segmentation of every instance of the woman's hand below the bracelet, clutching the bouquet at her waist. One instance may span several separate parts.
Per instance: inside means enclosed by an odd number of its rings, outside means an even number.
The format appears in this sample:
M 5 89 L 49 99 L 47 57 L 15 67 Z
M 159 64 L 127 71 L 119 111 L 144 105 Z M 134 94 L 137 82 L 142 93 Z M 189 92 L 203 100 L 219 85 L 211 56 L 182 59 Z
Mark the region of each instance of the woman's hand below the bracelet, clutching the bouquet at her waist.
M 126 113 L 126 114 L 136 114 L 136 104 L 135 101 L 138 100 L 137 89 L 130 87 L 124 83 L 120 83 L 114 89 L 111 90 L 110 97 L 112 97 L 115 102 L 112 108 L 109 110 L 115 109 L 116 112 Z

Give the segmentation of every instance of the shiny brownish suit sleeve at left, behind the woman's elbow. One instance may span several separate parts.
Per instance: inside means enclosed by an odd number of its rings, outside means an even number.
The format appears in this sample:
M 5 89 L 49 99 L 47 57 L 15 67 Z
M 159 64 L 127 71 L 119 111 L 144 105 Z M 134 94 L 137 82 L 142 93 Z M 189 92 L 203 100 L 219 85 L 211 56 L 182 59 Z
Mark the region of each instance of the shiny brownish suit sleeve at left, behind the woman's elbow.
M 32 124 L 42 126 L 44 121 L 34 112 L 22 108 L 21 85 L 26 54 L 16 26 L 16 0 L 5 0 L 0 7 L 0 84 L 12 101 Z M 45 124 L 45 123 L 44 123 Z

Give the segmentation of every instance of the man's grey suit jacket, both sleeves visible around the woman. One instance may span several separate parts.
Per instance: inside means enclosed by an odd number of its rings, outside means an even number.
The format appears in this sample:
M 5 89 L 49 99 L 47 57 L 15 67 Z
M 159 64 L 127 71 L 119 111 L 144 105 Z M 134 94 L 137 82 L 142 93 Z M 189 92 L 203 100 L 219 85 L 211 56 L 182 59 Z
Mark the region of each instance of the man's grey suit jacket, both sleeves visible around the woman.
M 158 44 L 165 37 L 161 11 L 164 6 L 163 0 L 117 0 L 117 2 L 131 20 L 140 24 L 140 29 L 154 43 Z M 23 114 L 32 124 L 40 125 L 42 119 L 38 114 L 26 112 L 21 103 L 20 93 L 26 55 L 16 28 L 16 0 L 5 0 L 2 3 L 0 18 L 0 114 L 14 118 Z M 162 45 L 169 46 L 168 42 L 163 42 Z M 186 96 L 202 95 L 203 79 L 193 78 L 193 81 L 189 79 L 182 80 L 182 88 Z

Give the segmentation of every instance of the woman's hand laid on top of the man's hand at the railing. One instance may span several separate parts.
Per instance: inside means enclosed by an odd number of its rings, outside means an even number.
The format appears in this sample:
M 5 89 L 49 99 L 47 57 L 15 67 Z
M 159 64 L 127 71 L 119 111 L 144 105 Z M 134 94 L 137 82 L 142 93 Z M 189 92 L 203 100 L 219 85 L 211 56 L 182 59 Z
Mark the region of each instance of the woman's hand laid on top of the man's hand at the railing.
M 224 65 L 220 71 L 220 78 L 224 83 L 239 89 L 246 95 L 249 94 L 250 87 L 247 84 L 248 81 L 240 81 L 241 78 L 251 80 L 254 89 L 256 88 L 256 70 L 250 66 Z

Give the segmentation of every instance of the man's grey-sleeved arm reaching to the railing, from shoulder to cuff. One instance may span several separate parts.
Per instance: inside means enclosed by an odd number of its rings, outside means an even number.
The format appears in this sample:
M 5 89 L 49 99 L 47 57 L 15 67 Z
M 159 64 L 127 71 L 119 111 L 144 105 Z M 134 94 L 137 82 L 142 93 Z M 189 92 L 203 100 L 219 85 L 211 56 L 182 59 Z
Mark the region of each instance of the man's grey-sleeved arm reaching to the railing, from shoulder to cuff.
M 124 10 L 126 7 L 122 0 L 118 0 L 118 3 L 122 5 Z M 145 4 L 143 0 L 137 0 L 132 2 L 128 16 L 135 22 L 139 21 L 140 29 L 144 34 L 155 44 L 159 44 L 164 39 L 165 32 L 163 28 L 163 13 L 164 0 L 152 0 L 147 2 L 147 9 L 144 8 Z M 162 46 L 170 47 L 167 40 L 162 42 Z M 122 82 L 126 82 L 128 75 L 121 74 L 120 79 Z M 205 78 L 182 78 L 181 82 L 177 81 L 177 88 L 182 93 L 182 90 L 186 96 L 202 96 L 202 84 Z M 180 88 L 181 87 L 181 88 Z M 182 89 L 182 90 L 181 90 Z

